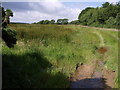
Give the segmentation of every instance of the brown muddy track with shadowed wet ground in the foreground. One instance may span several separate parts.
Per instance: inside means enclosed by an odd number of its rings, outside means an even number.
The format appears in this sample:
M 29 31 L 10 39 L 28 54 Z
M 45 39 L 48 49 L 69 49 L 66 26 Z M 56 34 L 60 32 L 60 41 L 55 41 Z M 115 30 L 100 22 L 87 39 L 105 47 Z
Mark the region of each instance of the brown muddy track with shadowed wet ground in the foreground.
M 114 87 L 115 72 L 105 69 L 102 60 L 92 64 L 80 65 L 71 75 L 71 88 L 104 88 L 110 90 Z

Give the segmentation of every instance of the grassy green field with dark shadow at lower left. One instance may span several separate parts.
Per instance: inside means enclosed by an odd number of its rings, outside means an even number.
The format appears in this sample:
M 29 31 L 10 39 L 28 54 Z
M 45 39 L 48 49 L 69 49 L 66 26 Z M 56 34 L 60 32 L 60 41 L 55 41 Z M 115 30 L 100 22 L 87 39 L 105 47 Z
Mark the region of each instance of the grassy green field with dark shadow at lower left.
M 77 25 L 10 24 L 17 30 L 17 44 L 4 42 L 3 87 L 67 88 L 76 64 L 104 60 L 105 67 L 118 73 L 118 32 Z M 97 49 L 107 52 L 99 54 Z

